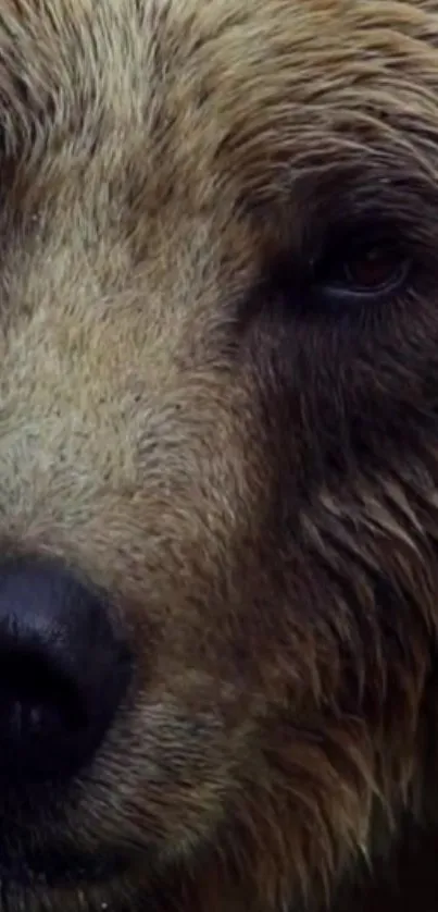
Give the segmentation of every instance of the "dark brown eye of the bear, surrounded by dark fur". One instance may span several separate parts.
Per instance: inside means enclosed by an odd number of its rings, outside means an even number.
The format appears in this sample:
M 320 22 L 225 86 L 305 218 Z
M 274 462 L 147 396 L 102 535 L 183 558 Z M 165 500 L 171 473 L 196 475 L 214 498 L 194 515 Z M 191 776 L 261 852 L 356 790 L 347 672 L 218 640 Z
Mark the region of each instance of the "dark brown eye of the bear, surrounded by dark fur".
M 314 268 L 314 283 L 328 299 L 381 300 L 406 284 L 412 261 L 393 242 L 346 237 Z

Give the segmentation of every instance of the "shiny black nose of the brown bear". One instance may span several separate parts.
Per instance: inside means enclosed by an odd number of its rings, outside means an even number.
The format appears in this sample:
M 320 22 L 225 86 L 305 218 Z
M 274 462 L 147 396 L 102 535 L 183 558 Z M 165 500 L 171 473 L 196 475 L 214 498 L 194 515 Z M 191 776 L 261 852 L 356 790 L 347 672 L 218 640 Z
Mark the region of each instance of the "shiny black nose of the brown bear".
M 104 600 L 55 563 L 0 565 L 0 776 L 23 786 L 73 777 L 128 673 Z

